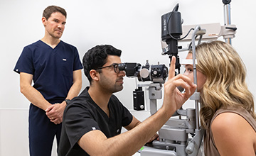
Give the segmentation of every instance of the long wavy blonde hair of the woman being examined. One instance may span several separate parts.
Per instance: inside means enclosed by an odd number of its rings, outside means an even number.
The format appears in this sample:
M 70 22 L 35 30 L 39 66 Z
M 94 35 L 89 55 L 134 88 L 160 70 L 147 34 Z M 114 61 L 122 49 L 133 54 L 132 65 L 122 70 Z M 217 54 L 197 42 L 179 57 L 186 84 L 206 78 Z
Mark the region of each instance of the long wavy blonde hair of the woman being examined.
M 208 129 L 215 111 L 228 106 L 245 108 L 256 118 L 253 96 L 245 83 L 245 65 L 231 45 L 219 40 L 202 43 L 196 47 L 196 59 L 196 69 L 206 75 L 201 90 L 203 128 Z

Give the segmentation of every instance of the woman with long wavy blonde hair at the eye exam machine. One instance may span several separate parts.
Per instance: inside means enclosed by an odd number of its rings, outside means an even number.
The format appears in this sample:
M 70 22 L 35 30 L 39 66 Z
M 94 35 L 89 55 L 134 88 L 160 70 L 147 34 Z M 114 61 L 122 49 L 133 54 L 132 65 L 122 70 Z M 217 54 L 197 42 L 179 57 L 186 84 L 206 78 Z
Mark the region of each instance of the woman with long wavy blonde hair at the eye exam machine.
M 186 59 L 192 59 L 188 52 Z M 198 91 L 205 155 L 255 155 L 256 116 L 246 71 L 238 52 L 222 41 L 196 47 Z M 193 79 L 193 65 L 185 75 Z

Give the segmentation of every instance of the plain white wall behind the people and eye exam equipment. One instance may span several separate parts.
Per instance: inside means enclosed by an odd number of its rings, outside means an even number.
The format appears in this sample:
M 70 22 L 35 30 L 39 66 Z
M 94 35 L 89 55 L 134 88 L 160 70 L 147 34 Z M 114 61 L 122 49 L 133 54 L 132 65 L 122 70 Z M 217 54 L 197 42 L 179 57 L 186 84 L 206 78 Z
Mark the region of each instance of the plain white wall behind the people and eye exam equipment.
M 25 45 L 43 38 L 43 9 L 62 6 L 68 12 L 62 40 L 75 45 L 80 59 L 98 44 L 110 44 L 122 50 L 122 62 L 149 60 L 169 65 L 169 57 L 161 56 L 161 15 L 176 3 L 183 25 L 220 23 L 224 25 L 223 3 L 220 0 L 0 0 L 0 156 L 28 155 L 28 100 L 19 91 L 19 75 L 13 72 Z M 250 1 L 231 2 L 231 23 L 238 27 L 233 46 L 247 67 L 247 84 L 256 96 L 255 72 L 255 4 Z M 186 54 L 185 54 L 186 55 Z M 181 54 L 184 57 L 184 54 Z M 82 88 L 88 85 L 82 76 Z M 124 78 L 119 99 L 132 110 L 135 80 Z M 161 101 L 159 102 L 161 104 Z M 193 104 L 191 105 L 193 106 Z M 186 105 L 185 105 L 186 107 Z M 144 120 L 149 112 L 134 112 Z

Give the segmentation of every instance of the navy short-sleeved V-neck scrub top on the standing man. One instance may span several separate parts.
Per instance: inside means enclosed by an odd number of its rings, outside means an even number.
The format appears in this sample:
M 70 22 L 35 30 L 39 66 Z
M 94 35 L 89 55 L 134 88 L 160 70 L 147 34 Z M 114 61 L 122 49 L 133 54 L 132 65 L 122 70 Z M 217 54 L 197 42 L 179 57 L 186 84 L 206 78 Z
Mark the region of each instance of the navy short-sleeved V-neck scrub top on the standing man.
M 60 43 L 51 48 L 43 41 L 23 48 L 15 72 L 33 74 L 33 87 L 50 103 L 61 102 L 73 85 L 73 71 L 82 69 L 78 50 L 73 45 Z

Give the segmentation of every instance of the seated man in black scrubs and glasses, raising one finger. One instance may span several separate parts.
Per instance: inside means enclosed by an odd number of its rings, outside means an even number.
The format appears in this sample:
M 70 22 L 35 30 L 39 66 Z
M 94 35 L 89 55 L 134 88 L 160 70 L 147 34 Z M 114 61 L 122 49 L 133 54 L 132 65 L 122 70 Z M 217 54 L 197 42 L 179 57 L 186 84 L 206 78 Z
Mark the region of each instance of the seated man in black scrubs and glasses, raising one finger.
M 188 77 L 174 77 L 173 57 L 169 80 L 164 84 L 164 104 L 141 123 L 113 95 L 123 89 L 125 72 L 118 68 L 120 55 L 121 50 L 111 45 L 97 45 L 85 53 L 82 64 L 90 87 L 65 108 L 59 156 L 133 155 L 156 138 L 156 132 L 196 89 Z M 177 86 L 186 92 L 181 94 Z M 120 134 L 122 126 L 128 131 Z

